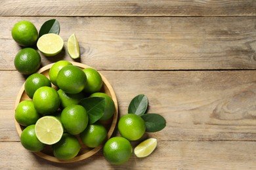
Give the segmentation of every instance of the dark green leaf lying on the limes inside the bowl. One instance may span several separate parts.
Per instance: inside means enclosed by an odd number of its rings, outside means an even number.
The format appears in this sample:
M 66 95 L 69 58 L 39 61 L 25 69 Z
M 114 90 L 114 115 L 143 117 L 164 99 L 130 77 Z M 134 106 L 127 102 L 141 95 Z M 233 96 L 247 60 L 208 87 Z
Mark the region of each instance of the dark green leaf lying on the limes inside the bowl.
M 87 97 L 81 99 L 79 105 L 83 106 L 89 116 L 89 124 L 94 124 L 99 120 L 105 110 L 105 97 Z

